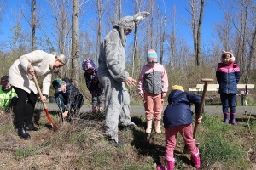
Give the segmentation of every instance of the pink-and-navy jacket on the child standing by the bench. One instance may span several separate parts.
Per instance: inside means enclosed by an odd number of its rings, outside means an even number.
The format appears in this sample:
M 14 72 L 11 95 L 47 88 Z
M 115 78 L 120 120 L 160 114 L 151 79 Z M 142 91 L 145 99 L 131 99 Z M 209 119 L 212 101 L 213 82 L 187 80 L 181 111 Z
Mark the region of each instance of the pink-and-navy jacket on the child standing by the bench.
M 219 94 L 237 94 L 237 83 L 240 80 L 239 65 L 232 62 L 230 65 L 218 63 L 216 78 L 219 84 Z

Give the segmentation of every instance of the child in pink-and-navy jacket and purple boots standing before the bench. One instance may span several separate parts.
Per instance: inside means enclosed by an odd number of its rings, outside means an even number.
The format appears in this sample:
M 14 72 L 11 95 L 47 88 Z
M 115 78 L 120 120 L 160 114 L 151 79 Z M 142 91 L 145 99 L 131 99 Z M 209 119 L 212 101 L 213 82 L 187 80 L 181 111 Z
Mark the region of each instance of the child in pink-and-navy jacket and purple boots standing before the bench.
M 232 52 L 225 52 L 223 50 L 222 53 L 222 62 L 218 63 L 216 70 L 216 78 L 219 84 L 218 93 L 222 103 L 224 122 L 236 126 L 237 83 L 240 80 L 241 73 L 239 65 L 234 62 L 235 57 Z

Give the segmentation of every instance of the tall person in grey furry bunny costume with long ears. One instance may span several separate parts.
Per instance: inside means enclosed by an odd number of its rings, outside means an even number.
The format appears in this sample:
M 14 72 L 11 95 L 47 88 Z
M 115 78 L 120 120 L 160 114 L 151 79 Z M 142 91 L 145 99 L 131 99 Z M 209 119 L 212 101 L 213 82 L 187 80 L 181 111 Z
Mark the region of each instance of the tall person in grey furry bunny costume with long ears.
M 135 23 L 148 15 L 148 12 L 140 12 L 121 18 L 101 44 L 98 79 L 105 90 L 106 133 L 107 139 L 117 146 L 125 145 L 118 139 L 119 121 L 123 127 L 132 129 L 135 126 L 134 122 L 131 122 L 130 96 L 125 83 L 135 86 L 137 81 L 125 70 L 126 36 L 134 29 Z

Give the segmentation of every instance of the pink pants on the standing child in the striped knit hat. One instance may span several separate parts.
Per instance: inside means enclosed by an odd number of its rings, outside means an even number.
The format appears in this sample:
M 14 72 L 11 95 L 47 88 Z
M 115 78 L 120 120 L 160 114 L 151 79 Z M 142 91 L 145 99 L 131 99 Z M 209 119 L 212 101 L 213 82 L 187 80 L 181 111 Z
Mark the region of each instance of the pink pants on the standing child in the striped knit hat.
M 144 93 L 144 108 L 146 111 L 147 120 L 151 120 L 154 116 L 155 119 L 161 119 L 163 111 L 164 100 L 162 94 Z

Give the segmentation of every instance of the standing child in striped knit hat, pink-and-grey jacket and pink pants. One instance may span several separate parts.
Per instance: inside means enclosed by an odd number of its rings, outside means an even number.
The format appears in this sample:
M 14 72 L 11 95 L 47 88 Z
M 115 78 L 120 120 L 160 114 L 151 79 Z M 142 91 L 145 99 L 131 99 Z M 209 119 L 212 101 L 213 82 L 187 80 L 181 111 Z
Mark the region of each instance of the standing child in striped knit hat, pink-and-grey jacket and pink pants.
M 156 133 L 161 133 L 160 120 L 163 98 L 168 91 L 168 77 L 164 66 L 157 62 L 154 49 L 148 50 L 147 62 L 138 78 L 138 94 L 144 99 L 147 119 L 146 133 L 151 133 L 153 116 L 154 130 Z

